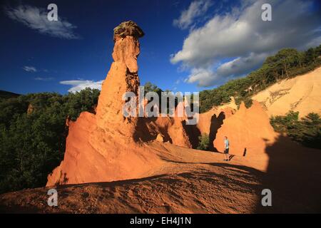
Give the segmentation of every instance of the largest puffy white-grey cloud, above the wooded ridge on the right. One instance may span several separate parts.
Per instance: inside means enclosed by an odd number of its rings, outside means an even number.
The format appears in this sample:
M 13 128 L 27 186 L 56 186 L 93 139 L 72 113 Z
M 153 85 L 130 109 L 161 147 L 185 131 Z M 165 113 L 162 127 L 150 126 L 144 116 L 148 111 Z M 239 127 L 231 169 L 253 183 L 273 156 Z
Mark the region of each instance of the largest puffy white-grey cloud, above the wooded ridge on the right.
M 261 6 L 266 2 L 272 5 L 272 21 L 261 19 Z M 258 68 L 266 56 L 281 48 L 303 49 L 320 41 L 321 14 L 311 10 L 312 1 L 250 0 L 242 4 L 194 28 L 183 48 L 170 56 L 171 63 L 190 70 L 188 83 L 213 86 L 223 77 Z M 225 63 L 226 58 L 232 60 Z

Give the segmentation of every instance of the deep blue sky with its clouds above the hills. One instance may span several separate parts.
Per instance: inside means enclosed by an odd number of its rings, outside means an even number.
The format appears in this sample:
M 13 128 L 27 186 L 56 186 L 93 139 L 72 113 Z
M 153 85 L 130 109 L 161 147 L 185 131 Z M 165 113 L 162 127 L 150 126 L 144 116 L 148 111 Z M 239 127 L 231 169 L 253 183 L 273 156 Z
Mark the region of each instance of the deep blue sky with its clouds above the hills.
M 321 43 L 318 1 L 265 2 L 272 21 L 260 19 L 263 1 L 250 0 L 2 1 L 0 90 L 67 93 L 98 86 L 111 66 L 113 28 L 126 20 L 146 33 L 141 84 L 182 92 L 244 76 L 280 48 Z M 44 21 L 51 3 L 58 6 L 54 26 Z

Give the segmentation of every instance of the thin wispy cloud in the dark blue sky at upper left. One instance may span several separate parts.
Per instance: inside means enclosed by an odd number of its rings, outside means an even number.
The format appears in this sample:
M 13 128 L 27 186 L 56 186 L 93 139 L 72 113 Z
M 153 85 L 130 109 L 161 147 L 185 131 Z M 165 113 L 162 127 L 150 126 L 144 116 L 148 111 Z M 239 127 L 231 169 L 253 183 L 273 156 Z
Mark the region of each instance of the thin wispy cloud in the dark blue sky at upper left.
M 6 8 L 6 14 L 14 21 L 19 21 L 29 28 L 39 31 L 39 33 L 66 39 L 79 38 L 73 29 L 73 24 L 58 18 L 58 21 L 47 19 L 48 11 L 35 6 L 19 5 L 16 8 Z

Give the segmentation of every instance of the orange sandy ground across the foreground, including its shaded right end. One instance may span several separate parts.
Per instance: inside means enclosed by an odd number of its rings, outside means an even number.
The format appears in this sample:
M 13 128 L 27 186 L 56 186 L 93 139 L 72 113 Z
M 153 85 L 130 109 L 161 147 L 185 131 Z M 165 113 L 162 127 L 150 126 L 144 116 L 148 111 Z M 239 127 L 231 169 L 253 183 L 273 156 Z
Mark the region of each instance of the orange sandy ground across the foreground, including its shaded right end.
M 321 190 L 321 172 L 316 168 L 320 164 L 318 150 L 305 149 L 305 154 L 300 154 L 290 151 L 286 143 L 272 145 L 272 151 L 285 152 L 277 155 L 277 160 L 270 154 L 267 170 L 260 170 L 264 165 L 257 161 L 254 162 L 256 167 L 251 167 L 250 158 L 235 156 L 230 162 L 224 162 L 219 153 L 159 142 L 145 146 L 158 151 L 167 161 L 161 169 L 146 174 L 148 177 L 60 186 L 57 188 L 58 207 L 47 205 L 48 188 L 45 187 L 11 192 L 0 195 L 0 210 L 41 213 L 321 212 L 321 200 L 317 198 Z M 311 153 L 315 159 L 308 164 L 309 157 L 305 155 Z M 260 204 L 264 188 L 272 190 L 272 207 Z

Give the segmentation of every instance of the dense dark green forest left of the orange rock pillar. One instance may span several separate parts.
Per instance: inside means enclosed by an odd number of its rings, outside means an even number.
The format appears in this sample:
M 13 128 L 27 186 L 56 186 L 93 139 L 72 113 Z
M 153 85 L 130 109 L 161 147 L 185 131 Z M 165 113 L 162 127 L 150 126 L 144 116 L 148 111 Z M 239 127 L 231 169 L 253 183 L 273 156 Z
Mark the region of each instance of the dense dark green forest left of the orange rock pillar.
M 99 90 L 34 93 L 0 99 L 0 192 L 46 185 L 47 175 L 63 159 L 68 129 L 93 111 Z

